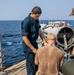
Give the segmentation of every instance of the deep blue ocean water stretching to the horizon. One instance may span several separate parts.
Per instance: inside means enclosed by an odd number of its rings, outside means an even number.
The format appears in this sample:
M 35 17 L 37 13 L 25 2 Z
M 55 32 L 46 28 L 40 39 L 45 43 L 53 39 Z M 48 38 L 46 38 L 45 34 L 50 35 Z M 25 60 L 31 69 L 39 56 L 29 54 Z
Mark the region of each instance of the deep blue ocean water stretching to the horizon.
M 49 20 L 40 20 L 40 23 L 48 23 Z M 59 21 L 59 20 L 55 20 Z M 74 27 L 74 20 L 61 20 L 70 23 Z M 0 21 L 0 35 L 2 42 L 3 66 L 7 67 L 25 59 L 22 50 L 21 20 Z

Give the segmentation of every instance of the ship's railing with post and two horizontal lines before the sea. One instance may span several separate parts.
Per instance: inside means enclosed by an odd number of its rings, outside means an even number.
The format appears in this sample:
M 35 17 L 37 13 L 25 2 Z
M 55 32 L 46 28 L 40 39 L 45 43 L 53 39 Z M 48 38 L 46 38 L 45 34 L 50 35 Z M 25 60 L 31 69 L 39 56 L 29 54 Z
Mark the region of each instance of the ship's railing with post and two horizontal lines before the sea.
M 2 47 L 1 47 L 2 38 L 13 37 L 13 36 L 21 36 L 21 34 L 0 35 L 0 71 L 4 71 L 4 68 L 5 68 L 3 66 L 3 63 L 5 62 L 5 61 L 2 60 L 3 57 L 17 58 L 19 56 L 24 56 L 23 54 L 20 54 L 20 55 L 2 54 Z

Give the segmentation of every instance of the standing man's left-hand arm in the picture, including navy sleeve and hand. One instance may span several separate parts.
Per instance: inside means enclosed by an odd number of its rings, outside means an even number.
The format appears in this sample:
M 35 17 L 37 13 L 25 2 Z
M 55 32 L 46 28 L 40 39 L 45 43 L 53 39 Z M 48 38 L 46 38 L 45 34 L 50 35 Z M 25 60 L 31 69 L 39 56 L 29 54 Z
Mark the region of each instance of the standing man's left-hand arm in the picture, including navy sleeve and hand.
M 29 21 L 23 21 L 21 23 L 21 30 L 22 30 L 22 39 L 25 42 L 25 44 L 33 51 L 33 53 L 36 53 L 36 48 L 33 47 L 27 36 L 29 35 Z

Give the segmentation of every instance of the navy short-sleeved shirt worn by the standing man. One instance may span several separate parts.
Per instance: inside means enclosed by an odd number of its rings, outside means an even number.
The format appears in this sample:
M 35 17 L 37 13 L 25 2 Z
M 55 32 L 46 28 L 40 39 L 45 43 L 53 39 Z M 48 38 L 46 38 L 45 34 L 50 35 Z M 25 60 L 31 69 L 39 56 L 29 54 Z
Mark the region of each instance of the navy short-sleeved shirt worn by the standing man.
M 40 27 L 41 26 L 39 24 L 39 20 L 34 21 L 30 16 L 30 14 L 21 23 L 22 36 L 27 35 L 29 41 L 35 48 L 37 48 L 37 43 L 35 41 L 38 38 Z M 24 41 L 23 41 L 23 47 L 24 50 L 27 47 Z

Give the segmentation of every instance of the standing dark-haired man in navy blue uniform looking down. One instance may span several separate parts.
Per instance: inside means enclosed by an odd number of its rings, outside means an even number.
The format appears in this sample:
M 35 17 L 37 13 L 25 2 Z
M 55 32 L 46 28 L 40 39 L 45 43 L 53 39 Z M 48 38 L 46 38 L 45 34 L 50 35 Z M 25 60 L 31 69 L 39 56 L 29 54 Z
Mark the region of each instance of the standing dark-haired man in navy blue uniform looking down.
M 22 39 L 23 39 L 23 50 L 26 55 L 26 67 L 27 75 L 35 75 L 36 65 L 34 63 L 35 53 L 37 52 L 38 45 L 36 40 L 38 35 L 41 35 L 42 40 L 44 40 L 43 33 L 39 25 L 39 17 L 42 13 L 40 7 L 35 6 L 31 13 L 22 21 Z

